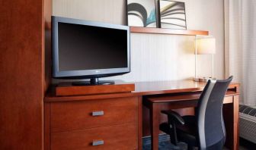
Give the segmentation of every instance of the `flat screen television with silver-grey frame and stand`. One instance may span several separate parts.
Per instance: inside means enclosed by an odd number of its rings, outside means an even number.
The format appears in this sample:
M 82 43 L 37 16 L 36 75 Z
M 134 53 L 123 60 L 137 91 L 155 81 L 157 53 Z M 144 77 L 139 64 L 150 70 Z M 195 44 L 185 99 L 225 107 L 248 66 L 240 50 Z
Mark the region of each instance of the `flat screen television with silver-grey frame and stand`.
M 54 78 L 110 84 L 98 78 L 130 72 L 130 27 L 53 16 L 52 46 Z

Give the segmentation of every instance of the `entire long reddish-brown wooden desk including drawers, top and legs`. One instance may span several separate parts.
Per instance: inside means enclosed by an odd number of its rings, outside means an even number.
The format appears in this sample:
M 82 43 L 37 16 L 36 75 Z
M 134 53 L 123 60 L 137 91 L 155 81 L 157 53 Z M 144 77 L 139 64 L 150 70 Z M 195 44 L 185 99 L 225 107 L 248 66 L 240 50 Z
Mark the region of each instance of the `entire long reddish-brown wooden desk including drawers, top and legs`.
M 133 92 L 74 96 L 49 92 L 44 99 L 45 149 L 95 149 L 91 141 L 105 139 L 98 146 L 141 150 L 143 125 L 151 120 L 152 148 L 157 150 L 160 111 L 195 107 L 205 85 L 192 80 L 156 81 L 135 83 Z M 229 86 L 223 107 L 230 149 L 238 149 L 238 87 L 238 83 Z M 176 100 L 170 102 L 169 96 Z M 150 109 L 152 119 L 145 120 L 142 105 Z M 91 111 L 104 111 L 104 115 L 92 117 Z M 125 120 L 121 119 L 124 115 Z

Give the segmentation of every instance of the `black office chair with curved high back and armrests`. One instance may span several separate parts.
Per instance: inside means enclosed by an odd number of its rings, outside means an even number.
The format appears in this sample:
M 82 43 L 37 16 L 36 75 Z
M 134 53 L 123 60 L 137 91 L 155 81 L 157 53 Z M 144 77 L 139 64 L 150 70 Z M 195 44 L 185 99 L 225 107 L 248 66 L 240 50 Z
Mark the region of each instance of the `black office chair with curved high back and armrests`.
M 186 142 L 189 150 L 194 147 L 201 150 L 222 149 L 226 140 L 222 104 L 232 78 L 208 80 L 195 116 L 181 117 L 174 111 L 162 111 L 168 115 L 168 123 L 160 124 L 159 129 L 170 135 L 171 143 Z

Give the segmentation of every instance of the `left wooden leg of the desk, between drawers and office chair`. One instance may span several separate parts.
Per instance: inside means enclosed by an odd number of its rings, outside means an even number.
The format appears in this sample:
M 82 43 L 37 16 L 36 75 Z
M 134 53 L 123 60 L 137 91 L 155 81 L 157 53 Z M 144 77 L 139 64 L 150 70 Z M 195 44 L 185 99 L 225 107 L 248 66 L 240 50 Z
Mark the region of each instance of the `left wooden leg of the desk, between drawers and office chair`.
M 158 150 L 158 134 L 159 134 L 159 106 L 152 104 L 150 109 L 150 123 L 151 123 L 151 149 Z

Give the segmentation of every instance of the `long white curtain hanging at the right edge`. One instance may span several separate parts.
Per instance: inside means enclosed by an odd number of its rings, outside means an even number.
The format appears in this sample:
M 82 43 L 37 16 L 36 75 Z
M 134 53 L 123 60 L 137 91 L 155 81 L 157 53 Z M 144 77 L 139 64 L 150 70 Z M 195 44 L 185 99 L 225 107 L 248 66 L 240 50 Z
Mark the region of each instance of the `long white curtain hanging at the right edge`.
M 256 0 L 224 0 L 226 77 L 241 83 L 241 102 L 256 105 Z

